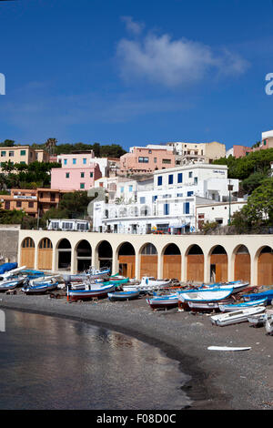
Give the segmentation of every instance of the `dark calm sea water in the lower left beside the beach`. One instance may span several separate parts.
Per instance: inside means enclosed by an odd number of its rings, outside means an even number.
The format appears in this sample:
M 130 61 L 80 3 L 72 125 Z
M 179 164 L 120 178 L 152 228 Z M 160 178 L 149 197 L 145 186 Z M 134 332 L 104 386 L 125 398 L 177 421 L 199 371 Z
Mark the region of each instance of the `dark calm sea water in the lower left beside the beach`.
M 178 365 L 115 331 L 6 310 L 0 409 L 177 410 L 190 404 Z

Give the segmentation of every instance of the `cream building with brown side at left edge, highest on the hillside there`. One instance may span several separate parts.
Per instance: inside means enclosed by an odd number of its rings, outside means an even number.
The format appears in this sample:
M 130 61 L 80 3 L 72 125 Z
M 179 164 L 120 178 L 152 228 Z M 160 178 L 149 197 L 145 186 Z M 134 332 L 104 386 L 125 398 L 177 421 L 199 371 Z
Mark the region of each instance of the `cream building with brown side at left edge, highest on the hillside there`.
M 35 161 L 49 162 L 49 154 L 42 149 L 35 149 L 31 146 L 14 146 L 0 148 L 0 167 L 5 162 L 12 164 L 29 165 Z M 1 168 L 0 168 L 1 172 Z

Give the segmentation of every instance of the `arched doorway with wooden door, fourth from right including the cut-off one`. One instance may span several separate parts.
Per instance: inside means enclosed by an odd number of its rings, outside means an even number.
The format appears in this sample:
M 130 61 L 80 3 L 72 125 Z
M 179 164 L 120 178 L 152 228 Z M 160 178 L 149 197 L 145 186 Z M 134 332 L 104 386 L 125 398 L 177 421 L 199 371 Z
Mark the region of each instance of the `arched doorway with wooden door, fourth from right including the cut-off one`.
M 187 280 L 204 281 L 204 253 L 198 245 L 193 245 L 187 250 Z

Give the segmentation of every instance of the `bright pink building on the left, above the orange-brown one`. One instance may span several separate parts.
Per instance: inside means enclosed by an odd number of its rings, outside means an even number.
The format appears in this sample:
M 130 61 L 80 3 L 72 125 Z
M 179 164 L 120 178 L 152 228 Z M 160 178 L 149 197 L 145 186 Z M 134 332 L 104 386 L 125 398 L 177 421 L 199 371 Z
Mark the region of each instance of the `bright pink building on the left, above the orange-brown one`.
M 88 190 L 102 174 L 97 164 L 87 167 L 52 168 L 51 188 L 60 190 Z

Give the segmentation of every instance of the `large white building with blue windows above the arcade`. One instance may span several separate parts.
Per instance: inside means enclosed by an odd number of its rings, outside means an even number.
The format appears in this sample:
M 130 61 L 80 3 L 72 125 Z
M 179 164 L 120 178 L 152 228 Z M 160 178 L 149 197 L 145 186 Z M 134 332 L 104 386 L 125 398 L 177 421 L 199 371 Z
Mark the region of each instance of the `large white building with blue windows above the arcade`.
M 193 232 L 198 226 L 197 206 L 226 202 L 238 191 L 238 180 L 227 178 L 226 165 L 161 169 L 153 176 L 144 189 L 137 183 L 136 202 L 123 199 L 119 205 L 95 203 L 94 229 L 140 234 L 153 230 Z M 119 184 L 125 189 L 122 182 Z

